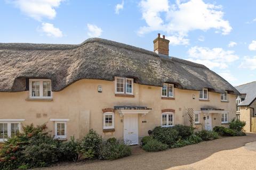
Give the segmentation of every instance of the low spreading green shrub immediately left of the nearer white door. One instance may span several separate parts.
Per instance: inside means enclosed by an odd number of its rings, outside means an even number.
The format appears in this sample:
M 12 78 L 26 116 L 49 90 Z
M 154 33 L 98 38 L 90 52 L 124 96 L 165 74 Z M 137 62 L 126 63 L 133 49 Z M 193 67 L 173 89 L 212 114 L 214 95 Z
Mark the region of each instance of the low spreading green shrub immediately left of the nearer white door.
M 102 143 L 99 149 L 99 158 L 113 160 L 131 155 L 131 148 L 124 144 L 119 144 L 116 138 L 110 138 Z

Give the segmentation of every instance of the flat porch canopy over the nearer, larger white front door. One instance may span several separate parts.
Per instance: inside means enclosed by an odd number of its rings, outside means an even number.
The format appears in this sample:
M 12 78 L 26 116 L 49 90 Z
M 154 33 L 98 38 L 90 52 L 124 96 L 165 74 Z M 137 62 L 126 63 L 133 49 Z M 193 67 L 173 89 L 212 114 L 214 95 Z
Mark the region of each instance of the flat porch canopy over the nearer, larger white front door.
M 152 110 L 146 106 L 114 106 L 114 109 L 118 111 L 120 116 L 124 114 L 142 114 L 144 116 Z

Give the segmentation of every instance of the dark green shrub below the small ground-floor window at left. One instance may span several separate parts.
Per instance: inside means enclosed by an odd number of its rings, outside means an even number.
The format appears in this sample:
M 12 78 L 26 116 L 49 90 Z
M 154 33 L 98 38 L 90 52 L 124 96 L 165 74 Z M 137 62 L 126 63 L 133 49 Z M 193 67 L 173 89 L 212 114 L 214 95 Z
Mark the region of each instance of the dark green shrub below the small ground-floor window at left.
M 75 140 L 74 137 L 70 137 L 69 141 L 61 143 L 59 151 L 62 161 L 77 162 L 81 158 L 81 142 Z

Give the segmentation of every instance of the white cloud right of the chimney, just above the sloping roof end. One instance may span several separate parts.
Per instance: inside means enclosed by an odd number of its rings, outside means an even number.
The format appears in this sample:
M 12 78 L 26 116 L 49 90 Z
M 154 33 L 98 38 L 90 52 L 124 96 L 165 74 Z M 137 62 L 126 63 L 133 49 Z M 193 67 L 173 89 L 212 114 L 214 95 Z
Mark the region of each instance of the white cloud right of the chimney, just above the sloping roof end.
M 204 64 L 213 69 L 218 67 L 219 69 L 227 69 L 231 62 L 238 60 L 238 56 L 234 54 L 232 50 L 224 50 L 222 48 L 207 48 L 194 46 L 188 50 L 189 58 L 191 62 Z

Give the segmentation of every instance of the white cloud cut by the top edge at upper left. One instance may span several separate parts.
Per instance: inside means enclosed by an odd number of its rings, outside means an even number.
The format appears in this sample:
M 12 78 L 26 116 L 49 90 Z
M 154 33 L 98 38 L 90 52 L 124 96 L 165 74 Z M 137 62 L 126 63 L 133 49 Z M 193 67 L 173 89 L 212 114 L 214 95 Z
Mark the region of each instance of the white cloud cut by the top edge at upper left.
M 10 0 L 16 7 L 20 8 L 21 12 L 34 18 L 41 20 L 46 17 L 53 19 L 56 16 L 55 8 L 58 7 L 63 0 Z

